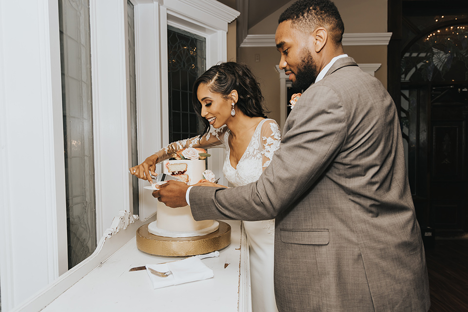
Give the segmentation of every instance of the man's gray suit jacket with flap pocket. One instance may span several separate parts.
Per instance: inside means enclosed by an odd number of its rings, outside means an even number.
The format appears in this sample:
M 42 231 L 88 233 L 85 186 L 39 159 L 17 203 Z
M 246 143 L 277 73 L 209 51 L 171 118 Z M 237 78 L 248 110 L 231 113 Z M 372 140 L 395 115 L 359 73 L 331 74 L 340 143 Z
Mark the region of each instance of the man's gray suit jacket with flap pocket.
M 190 203 L 197 220 L 276 218 L 280 311 L 429 309 L 397 111 L 351 58 L 304 92 L 257 182 L 194 187 Z

